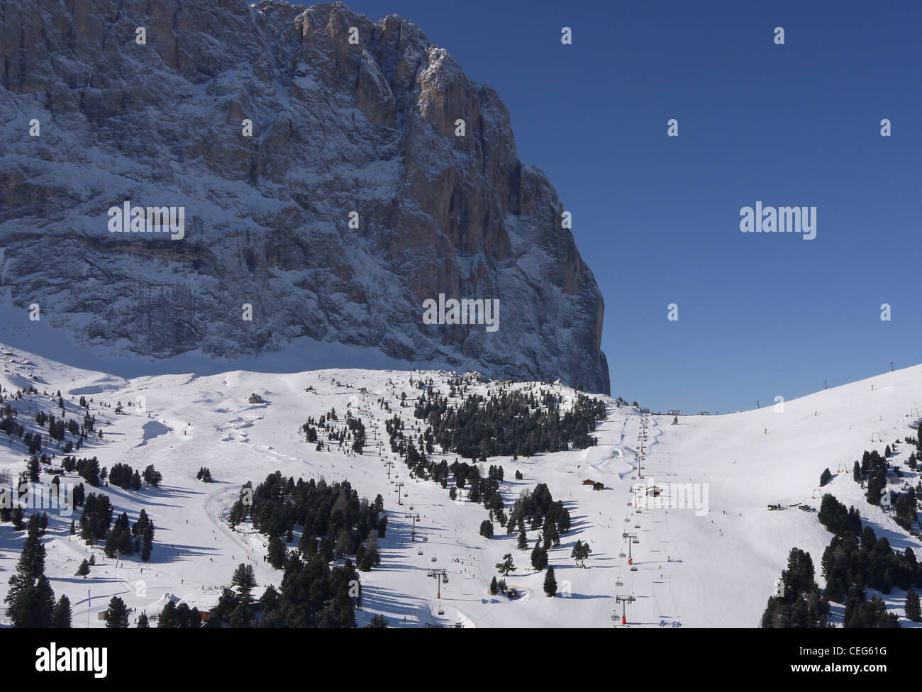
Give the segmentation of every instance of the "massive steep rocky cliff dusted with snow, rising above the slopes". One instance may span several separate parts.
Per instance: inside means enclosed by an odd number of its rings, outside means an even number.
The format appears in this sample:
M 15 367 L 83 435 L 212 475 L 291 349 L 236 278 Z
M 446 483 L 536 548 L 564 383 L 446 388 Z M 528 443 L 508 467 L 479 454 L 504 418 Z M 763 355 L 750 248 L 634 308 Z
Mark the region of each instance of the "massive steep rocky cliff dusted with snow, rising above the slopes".
M 493 89 L 405 19 L 24 0 L 0 2 L 0 30 L 16 305 L 145 355 L 307 336 L 609 391 L 603 302 L 557 194 L 516 157 Z M 183 239 L 110 232 L 124 202 L 183 207 Z M 424 323 L 440 294 L 498 299 L 499 329 Z

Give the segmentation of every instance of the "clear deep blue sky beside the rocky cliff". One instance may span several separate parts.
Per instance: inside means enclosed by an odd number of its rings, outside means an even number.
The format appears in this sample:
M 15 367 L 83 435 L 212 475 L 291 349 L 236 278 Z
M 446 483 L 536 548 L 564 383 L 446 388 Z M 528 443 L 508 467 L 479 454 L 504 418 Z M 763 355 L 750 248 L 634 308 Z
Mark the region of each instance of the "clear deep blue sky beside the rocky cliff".
M 347 5 L 499 92 L 605 297 L 613 395 L 727 412 L 922 361 L 922 4 Z M 816 239 L 741 233 L 756 200 L 816 206 Z

